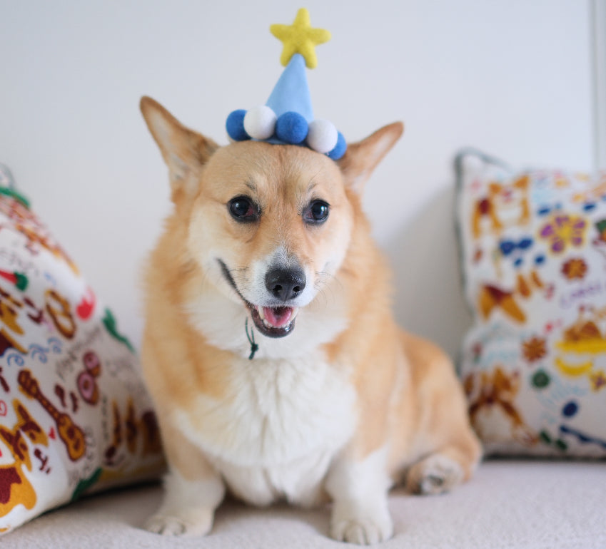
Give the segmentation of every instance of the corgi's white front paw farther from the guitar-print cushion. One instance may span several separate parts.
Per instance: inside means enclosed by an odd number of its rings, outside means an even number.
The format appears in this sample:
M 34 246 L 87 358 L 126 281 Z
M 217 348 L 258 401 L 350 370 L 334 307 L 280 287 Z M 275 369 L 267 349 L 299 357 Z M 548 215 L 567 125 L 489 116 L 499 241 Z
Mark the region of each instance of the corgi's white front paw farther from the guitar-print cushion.
M 393 535 L 393 523 L 388 510 L 373 509 L 368 513 L 350 512 L 335 506 L 330 521 L 330 537 L 338 541 L 373 545 Z

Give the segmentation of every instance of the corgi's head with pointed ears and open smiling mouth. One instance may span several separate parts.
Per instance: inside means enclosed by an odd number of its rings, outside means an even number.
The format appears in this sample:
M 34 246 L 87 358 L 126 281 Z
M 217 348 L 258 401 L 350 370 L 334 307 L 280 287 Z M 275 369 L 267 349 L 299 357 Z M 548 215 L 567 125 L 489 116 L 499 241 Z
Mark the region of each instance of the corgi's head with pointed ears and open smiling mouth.
M 335 162 L 296 145 L 243 141 L 219 147 L 151 98 L 141 111 L 171 178 L 188 255 L 267 337 L 293 332 L 343 265 L 358 195 L 403 131 L 388 125 L 348 145 Z

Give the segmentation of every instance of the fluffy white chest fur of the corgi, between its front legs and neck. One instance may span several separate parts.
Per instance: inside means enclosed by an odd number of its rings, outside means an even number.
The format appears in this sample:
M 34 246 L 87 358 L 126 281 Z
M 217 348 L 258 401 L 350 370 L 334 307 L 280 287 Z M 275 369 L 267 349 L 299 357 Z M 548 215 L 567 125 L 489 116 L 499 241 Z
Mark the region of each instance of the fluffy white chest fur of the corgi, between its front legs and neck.
M 175 423 L 203 449 L 239 496 L 305 503 L 353 432 L 355 394 L 343 372 L 308 356 L 234 359 L 229 394 L 199 396 Z

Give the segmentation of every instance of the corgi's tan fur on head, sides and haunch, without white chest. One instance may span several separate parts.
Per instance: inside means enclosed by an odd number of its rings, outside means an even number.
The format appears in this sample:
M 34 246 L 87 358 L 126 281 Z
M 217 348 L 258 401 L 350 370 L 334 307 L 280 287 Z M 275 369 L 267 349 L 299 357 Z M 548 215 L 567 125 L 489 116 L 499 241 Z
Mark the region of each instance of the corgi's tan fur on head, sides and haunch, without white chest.
M 318 276 L 314 282 L 322 291 L 304 309 L 322 311 L 334 304 L 347 319 L 340 333 L 318 349 L 355 393 L 358 422 L 335 461 L 361 462 L 387 448 L 386 473 L 400 479 L 410 469 L 410 488 L 427 491 L 423 460 L 440 453 L 469 478 L 480 445 L 452 364 L 433 344 L 395 325 L 390 271 L 370 237 L 360 201 L 365 180 L 403 126 L 386 126 L 350 144 L 335 163 L 292 145 L 249 141 L 218 148 L 150 98 L 143 98 L 141 109 L 171 171 L 175 205 L 148 263 L 143 341 L 144 372 L 171 468 L 195 478 L 210 466 L 201 448 L 175 432 L 180 426 L 173 424 L 174 412 L 193 409 L 201 395 L 221 401 L 236 394 L 231 385 L 236 366 L 231 364 L 241 356 L 210 344 L 188 314 L 201 292 L 240 301 L 213 270 L 208 249 L 237 266 L 233 277 L 238 287 L 246 287 L 248 266 L 281 243 L 288 257 Z M 261 205 L 262 222 L 243 225 L 231 219 L 226 203 L 237 195 L 250 195 Z M 330 225 L 308 227 L 301 210 L 317 197 L 330 204 Z M 318 274 L 332 262 L 339 263 L 334 275 Z M 233 329 L 243 332 L 239 324 Z M 204 418 L 192 421 L 199 422 L 196 429 L 207 428 Z M 448 481 L 443 488 L 450 488 Z

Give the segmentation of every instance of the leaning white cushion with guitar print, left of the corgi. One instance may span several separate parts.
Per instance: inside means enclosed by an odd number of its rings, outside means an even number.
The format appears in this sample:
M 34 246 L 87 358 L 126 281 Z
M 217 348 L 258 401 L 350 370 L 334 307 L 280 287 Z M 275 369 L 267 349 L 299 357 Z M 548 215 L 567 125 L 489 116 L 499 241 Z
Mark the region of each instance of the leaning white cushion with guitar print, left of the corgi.
M 161 465 L 131 344 L 28 202 L 0 188 L 0 533 Z

